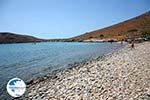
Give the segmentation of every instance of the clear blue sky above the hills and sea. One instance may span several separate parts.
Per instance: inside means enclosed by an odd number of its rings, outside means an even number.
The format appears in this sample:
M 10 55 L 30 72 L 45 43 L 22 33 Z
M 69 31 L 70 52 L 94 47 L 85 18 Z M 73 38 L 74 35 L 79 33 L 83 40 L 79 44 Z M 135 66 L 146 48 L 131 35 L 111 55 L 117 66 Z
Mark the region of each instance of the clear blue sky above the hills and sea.
M 0 0 L 0 32 L 69 38 L 150 11 L 150 0 Z

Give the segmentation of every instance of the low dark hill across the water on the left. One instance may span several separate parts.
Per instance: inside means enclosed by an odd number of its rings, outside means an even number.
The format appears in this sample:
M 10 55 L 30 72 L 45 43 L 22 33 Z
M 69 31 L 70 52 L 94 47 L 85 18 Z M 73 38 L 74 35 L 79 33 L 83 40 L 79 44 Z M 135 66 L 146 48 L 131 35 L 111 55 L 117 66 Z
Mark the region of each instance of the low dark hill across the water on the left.
M 0 32 L 0 43 L 27 43 L 40 41 L 42 41 L 42 39 L 33 36 L 19 35 L 10 32 Z

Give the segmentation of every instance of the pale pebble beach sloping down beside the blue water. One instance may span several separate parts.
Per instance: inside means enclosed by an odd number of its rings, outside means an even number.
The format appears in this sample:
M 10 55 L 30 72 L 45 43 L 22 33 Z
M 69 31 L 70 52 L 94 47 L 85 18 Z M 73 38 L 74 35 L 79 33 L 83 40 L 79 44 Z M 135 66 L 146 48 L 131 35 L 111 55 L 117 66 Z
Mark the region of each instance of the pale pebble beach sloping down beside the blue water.
M 32 80 L 27 100 L 150 100 L 150 42 Z

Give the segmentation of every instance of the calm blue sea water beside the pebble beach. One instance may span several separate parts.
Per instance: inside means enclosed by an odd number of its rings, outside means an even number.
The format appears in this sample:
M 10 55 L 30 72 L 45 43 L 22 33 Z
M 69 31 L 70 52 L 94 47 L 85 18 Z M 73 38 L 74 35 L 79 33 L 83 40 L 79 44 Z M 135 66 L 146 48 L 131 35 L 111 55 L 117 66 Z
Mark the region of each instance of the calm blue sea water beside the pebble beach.
M 27 80 L 68 64 L 98 57 L 121 47 L 118 43 L 21 43 L 0 45 L 0 87 L 14 77 Z M 2 93 L 2 91 L 1 91 Z

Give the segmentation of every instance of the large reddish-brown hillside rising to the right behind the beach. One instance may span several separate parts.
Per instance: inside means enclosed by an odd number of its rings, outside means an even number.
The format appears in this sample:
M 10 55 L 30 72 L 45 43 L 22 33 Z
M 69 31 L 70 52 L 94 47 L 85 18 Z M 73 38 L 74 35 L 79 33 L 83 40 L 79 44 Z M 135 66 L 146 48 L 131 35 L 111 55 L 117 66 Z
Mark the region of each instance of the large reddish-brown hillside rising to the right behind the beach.
M 107 19 L 106 19 L 107 20 Z M 139 36 L 144 31 L 150 30 L 150 12 L 144 13 L 127 21 L 92 32 L 72 37 L 73 41 L 87 39 L 125 39 Z

